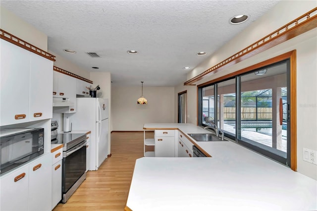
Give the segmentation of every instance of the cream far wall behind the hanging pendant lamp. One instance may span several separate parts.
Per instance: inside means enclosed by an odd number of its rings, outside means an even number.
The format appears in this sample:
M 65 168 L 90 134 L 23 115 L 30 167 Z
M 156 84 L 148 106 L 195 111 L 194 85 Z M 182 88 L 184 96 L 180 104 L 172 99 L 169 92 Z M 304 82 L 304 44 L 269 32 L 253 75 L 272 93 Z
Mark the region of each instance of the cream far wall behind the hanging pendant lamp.
M 142 131 L 144 123 L 174 122 L 174 87 L 145 87 L 146 105 L 137 105 L 140 87 L 112 87 L 112 130 Z

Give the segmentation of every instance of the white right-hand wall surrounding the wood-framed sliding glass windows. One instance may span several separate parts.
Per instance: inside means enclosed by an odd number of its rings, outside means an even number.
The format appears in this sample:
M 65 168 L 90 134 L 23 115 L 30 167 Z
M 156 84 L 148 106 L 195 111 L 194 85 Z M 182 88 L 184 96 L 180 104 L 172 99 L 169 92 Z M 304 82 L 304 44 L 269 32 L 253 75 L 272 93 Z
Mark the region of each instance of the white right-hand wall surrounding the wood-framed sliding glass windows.
M 187 79 L 209 69 L 223 59 L 239 52 L 248 45 L 261 39 L 275 29 L 285 25 L 317 6 L 317 1 L 281 1 L 267 14 L 255 21 L 250 27 L 236 36 L 211 57 L 192 70 Z M 211 81 L 220 76 L 251 66 L 268 58 L 296 50 L 297 53 L 297 170 L 317 180 L 317 165 L 303 161 L 303 148 L 317 151 L 317 29 L 288 40 L 263 53 L 252 56 L 238 64 L 210 75 L 196 82 L 196 85 Z M 178 86 L 176 90 L 186 89 Z M 188 86 L 189 87 L 189 86 Z M 176 94 L 176 91 L 175 91 Z M 194 105 L 197 92 L 188 93 L 188 102 Z M 197 115 L 197 108 L 189 106 L 190 115 Z M 177 106 L 175 106 L 177 111 Z

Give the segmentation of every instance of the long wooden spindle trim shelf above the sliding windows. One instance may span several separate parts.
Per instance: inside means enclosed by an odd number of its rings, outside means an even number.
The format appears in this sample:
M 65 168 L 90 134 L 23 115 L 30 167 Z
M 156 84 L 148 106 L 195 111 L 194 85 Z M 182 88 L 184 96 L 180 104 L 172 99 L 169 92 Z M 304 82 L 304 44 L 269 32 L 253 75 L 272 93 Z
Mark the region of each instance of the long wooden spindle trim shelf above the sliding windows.
M 184 85 L 192 85 L 194 82 L 203 79 L 204 77 L 206 77 L 207 74 L 211 72 L 219 72 L 225 67 L 229 67 L 236 63 L 239 63 L 240 61 L 264 52 L 267 49 L 270 49 L 316 27 L 317 7 L 289 22 L 288 24 L 282 26 L 281 28 L 275 30 L 274 32 L 258 40 L 257 42 L 241 50 L 240 52 L 235 53 L 234 55 L 231 55 L 230 57 L 224 59 L 220 63 L 195 76 L 194 78 L 184 82 Z

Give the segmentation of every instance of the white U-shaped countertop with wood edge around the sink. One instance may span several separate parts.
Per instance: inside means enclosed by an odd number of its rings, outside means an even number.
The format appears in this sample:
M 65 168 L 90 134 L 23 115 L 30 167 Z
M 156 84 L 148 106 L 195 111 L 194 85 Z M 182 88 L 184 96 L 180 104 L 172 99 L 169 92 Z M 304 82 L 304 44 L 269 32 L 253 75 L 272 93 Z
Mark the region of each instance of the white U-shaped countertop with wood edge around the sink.
M 206 132 L 193 124 L 145 124 L 144 128 Z M 127 207 L 132 211 L 317 210 L 316 180 L 230 141 L 195 144 L 212 158 L 138 159 Z

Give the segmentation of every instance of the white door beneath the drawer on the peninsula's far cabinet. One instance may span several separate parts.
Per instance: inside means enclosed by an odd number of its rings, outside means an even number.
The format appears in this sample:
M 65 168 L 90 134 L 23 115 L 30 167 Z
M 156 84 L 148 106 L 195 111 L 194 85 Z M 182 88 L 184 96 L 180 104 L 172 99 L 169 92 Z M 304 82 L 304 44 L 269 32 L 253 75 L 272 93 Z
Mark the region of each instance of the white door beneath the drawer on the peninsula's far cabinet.
M 175 157 L 174 137 L 155 138 L 155 157 Z

